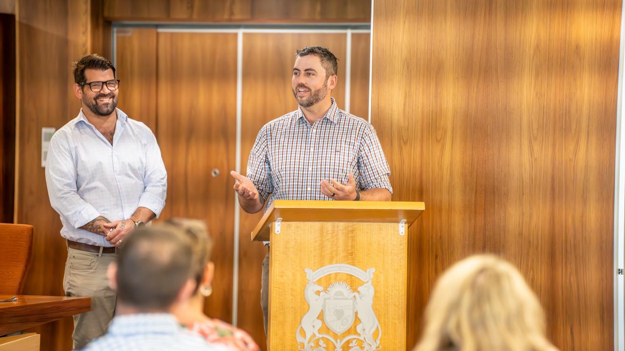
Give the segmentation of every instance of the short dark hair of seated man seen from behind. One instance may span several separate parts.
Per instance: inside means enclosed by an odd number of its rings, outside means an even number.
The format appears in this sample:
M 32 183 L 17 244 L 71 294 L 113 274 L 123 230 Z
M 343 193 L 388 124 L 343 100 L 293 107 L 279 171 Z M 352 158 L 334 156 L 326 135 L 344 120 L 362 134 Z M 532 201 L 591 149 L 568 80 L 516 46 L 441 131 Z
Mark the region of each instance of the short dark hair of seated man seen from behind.
M 191 241 L 179 231 L 134 231 L 118 250 L 118 299 L 138 310 L 168 309 L 191 277 L 191 253 Z

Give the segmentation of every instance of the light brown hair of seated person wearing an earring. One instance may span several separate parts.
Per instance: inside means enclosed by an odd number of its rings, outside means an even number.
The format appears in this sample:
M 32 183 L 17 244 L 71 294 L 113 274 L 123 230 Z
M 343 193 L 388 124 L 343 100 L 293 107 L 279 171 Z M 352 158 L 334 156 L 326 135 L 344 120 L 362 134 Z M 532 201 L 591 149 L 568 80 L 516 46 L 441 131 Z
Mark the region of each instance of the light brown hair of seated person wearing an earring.
M 162 225 L 182 232 L 191 242 L 191 277 L 197 280 L 197 290 L 204 276 L 204 268 L 211 260 L 212 239 L 206 223 L 197 219 L 174 217 Z

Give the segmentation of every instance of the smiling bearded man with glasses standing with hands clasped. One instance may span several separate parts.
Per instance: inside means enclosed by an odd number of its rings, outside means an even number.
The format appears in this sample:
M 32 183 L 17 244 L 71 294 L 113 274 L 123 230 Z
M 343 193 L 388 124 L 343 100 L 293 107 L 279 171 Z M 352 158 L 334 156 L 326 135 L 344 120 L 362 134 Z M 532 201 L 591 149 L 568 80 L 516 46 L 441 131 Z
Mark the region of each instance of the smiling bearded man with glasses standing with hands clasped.
M 167 173 L 153 132 L 116 108 L 119 79 L 111 61 L 83 57 L 74 63 L 74 81 L 82 108 L 50 141 L 46 183 L 68 246 L 63 289 L 91 297 L 91 311 L 74 316 L 79 349 L 113 318 L 106 269 L 132 230 L 163 210 Z

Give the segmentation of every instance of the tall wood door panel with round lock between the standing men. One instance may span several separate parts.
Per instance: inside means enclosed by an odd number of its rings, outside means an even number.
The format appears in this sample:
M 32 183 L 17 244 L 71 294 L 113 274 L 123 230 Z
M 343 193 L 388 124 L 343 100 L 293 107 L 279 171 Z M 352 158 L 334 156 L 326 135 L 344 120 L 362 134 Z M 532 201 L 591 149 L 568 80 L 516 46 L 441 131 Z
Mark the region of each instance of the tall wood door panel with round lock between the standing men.
M 206 220 L 215 277 L 204 310 L 225 321 L 232 320 L 236 51 L 237 34 L 158 34 L 157 137 L 168 170 L 161 218 Z

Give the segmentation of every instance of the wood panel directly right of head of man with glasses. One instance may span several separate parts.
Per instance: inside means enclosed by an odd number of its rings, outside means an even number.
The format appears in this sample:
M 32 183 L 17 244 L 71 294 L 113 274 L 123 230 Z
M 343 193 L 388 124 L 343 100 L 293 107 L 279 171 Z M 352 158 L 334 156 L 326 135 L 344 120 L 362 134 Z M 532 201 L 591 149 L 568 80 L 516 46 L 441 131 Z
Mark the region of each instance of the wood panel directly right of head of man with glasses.
M 118 29 L 115 41 L 118 107 L 156 133 L 156 28 Z

